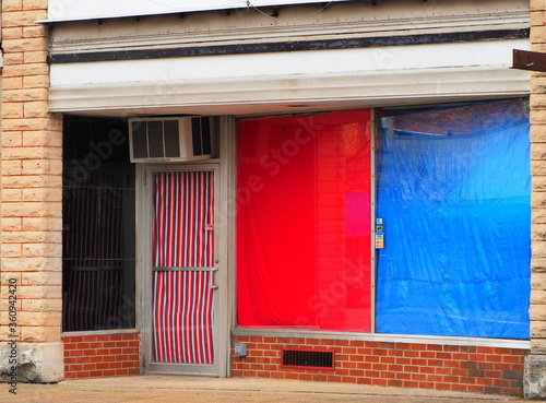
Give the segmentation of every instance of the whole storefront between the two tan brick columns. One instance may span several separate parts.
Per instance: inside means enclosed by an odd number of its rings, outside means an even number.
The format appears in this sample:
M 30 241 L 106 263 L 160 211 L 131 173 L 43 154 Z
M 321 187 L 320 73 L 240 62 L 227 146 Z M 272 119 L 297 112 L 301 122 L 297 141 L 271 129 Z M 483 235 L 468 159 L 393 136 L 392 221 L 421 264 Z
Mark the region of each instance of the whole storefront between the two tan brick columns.
M 59 379 L 522 394 L 529 3 L 295 3 L 49 4 Z

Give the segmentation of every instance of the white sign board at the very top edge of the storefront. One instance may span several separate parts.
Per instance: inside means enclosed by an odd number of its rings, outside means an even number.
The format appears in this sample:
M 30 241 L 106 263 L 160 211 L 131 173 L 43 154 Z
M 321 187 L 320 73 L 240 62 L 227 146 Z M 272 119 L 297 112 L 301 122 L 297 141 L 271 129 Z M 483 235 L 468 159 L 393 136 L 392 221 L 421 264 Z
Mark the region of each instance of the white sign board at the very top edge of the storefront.
M 332 0 L 345 1 L 345 0 Z M 47 22 L 171 14 L 206 10 L 252 9 L 269 5 L 316 3 L 317 0 L 50 0 Z

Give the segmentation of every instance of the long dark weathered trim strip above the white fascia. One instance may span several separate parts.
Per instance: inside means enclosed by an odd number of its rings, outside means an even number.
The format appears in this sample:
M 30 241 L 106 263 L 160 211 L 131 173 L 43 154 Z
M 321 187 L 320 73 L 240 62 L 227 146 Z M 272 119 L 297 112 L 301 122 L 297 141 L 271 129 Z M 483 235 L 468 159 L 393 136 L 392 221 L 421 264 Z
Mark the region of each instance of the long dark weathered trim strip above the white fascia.
M 49 63 L 76 63 L 88 61 L 142 60 L 183 58 L 195 56 L 221 56 L 245 54 L 271 54 L 299 50 L 330 50 L 403 45 L 454 44 L 479 40 L 529 38 L 529 28 L 459 32 L 444 34 L 418 34 L 401 36 L 361 37 L 349 39 L 296 40 L 266 44 L 239 44 L 217 46 L 191 46 L 162 49 L 110 50 L 93 52 L 55 54 L 48 56 Z

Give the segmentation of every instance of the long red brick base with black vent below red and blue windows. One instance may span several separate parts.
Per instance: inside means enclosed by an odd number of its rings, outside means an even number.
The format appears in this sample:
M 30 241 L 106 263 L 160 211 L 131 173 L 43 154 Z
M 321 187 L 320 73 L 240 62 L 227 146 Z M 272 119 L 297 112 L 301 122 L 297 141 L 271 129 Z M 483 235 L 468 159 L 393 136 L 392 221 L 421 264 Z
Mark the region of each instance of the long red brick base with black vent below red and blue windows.
M 529 349 L 343 340 L 235 336 L 248 356 L 235 357 L 235 377 L 264 377 L 377 386 L 523 394 Z M 282 368 L 283 348 L 335 351 L 335 369 Z

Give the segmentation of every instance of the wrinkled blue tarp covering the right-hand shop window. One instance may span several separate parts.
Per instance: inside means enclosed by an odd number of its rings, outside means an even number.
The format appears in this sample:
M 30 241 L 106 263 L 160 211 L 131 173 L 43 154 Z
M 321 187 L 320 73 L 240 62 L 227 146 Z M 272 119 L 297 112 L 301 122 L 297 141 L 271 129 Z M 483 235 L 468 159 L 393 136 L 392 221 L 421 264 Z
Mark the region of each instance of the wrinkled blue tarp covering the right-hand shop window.
M 523 109 L 505 100 L 381 119 L 378 332 L 529 339 Z

